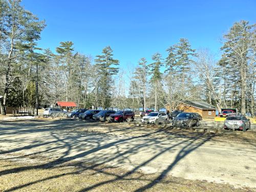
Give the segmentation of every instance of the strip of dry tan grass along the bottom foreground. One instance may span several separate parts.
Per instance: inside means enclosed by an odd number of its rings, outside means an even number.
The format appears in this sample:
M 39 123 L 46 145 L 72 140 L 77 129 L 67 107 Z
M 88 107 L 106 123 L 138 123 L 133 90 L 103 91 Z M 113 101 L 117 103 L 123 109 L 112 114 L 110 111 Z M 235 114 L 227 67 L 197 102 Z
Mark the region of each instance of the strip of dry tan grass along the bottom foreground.
M 155 174 L 139 172 L 125 175 L 126 170 L 104 165 L 89 168 L 86 164 L 67 164 L 54 168 L 29 169 L 31 164 L 0 161 L 0 191 L 256 191 L 251 188 L 234 188 L 229 184 L 186 180 L 172 176 L 156 179 Z M 20 171 L 20 167 L 22 171 Z M 19 170 L 9 173 L 8 170 Z M 141 188 L 142 189 L 142 188 Z

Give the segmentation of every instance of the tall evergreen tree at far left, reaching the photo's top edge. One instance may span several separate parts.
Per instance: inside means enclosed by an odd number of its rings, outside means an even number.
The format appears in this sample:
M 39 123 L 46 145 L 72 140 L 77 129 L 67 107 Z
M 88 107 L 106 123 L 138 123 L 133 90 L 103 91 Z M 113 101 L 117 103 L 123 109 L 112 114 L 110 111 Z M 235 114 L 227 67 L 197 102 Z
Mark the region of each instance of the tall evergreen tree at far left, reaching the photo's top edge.
M 5 39 L 5 89 L 1 113 L 6 114 L 5 106 L 8 91 L 12 86 L 13 67 L 19 57 L 19 51 L 28 51 L 35 46 L 35 41 L 40 38 L 40 32 L 45 27 L 44 21 L 24 9 L 20 0 L 1 1 L 1 40 Z M 1 45 L 2 47 L 2 45 Z

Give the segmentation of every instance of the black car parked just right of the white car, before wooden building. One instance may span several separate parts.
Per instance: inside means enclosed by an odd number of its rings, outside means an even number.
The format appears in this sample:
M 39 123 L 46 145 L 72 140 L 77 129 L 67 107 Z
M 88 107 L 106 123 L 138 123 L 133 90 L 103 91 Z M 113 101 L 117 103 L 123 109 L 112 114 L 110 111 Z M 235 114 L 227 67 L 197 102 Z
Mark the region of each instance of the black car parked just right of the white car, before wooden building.
M 173 125 L 180 125 L 180 126 L 199 126 L 199 119 L 198 116 L 194 113 L 180 113 L 173 119 Z

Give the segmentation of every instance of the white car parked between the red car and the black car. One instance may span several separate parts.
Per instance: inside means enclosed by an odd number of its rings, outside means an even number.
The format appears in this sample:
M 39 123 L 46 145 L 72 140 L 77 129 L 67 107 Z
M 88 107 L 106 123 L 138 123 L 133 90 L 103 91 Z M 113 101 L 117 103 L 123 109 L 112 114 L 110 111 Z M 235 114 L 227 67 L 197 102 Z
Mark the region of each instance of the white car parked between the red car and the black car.
M 164 123 L 164 124 L 168 124 L 169 117 L 164 112 L 151 112 L 147 116 L 144 116 L 141 121 L 143 123 L 154 123 L 154 124 Z

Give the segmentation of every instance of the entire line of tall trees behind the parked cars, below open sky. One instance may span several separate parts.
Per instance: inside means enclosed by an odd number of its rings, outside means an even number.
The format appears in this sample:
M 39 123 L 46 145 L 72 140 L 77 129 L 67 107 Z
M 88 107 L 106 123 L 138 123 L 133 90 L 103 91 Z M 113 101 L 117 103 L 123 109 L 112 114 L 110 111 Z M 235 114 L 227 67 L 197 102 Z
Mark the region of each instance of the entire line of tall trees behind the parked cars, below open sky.
M 234 23 L 223 35 L 222 57 L 195 50 L 181 38 L 166 49 L 167 57 L 142 57 L 131 71 L 107 46 L 93 60 L 77 53 L 73 42 L 40 49 L 45 22 L 20 6 L 0 0 L 0 99 L 7 106 L 29 108 L 75 101 L 78 108 L 176 109 L 184 100 L 205 100 L 221 108 L 238 108 L 254 114 L 255 25 Z

